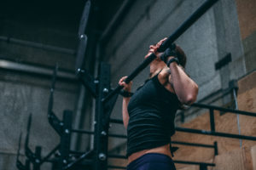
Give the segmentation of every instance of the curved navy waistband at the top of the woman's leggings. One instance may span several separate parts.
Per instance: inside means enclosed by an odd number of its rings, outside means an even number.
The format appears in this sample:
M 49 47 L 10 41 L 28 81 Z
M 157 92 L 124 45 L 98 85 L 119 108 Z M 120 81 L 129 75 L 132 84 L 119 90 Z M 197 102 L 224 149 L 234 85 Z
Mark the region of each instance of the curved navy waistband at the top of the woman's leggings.
M 143 156 L 140 156 L 134 161 L 131 161 L 131 163 L 128 164 L 127 169 L 132 169 L 137 166 L 140 166 L 144 163 L 152 162 L 152 161 L 158 161 L 163 163 L 170 163 L 172 162 L 172 158 L 170 156 L 166 156 L 164 154 L 160 153 L 148 153 Z

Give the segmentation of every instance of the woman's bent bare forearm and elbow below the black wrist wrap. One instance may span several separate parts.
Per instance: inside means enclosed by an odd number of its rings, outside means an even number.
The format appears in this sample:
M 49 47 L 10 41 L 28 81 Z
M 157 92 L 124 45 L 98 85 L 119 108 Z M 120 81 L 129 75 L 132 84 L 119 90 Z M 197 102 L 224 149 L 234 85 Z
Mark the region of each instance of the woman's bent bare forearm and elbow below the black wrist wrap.
M 172 62 L 168 65 L 171 70 L 172 84 L 177 98 L 186 105 L 195 102 L 198 94 L 197 84 L 183 71 L 182 67 Z

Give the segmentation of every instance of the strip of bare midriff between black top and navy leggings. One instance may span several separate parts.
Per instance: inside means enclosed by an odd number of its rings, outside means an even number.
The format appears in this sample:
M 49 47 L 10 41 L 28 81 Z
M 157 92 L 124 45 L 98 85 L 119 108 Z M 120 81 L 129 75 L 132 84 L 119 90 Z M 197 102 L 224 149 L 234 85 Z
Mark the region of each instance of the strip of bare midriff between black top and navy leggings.
M 131 154 L 131 156 L 128 157 L 128 164 L 131 163 L 131 161 L 136 160 L 140 156 L 143 156 L 148 153 L 159 153 L 159 154 L 163 154 L 163 155 L 172 157 L 172 154 L 170 151 L 170 144 L 166 144 L 166 145 L 162 145 L 157 148 L 153 148 L 153 149 L 149 149 L 149 150 L 141 150 L 141 151 Z

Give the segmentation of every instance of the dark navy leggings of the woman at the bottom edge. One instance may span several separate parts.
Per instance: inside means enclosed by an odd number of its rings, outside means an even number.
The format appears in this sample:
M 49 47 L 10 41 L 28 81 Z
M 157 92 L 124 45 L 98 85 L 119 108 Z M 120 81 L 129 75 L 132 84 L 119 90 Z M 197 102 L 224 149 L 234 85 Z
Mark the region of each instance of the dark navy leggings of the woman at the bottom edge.
M 158 154 L 148 153 L 137 160 L 131 161 L 127 170 L 176 170 L 171 157 Z

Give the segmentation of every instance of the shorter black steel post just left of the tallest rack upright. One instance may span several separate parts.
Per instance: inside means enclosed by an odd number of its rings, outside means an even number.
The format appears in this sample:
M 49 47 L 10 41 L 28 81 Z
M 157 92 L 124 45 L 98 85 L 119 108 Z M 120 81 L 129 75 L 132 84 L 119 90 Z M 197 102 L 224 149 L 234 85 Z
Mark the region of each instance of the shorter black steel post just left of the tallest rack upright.
M 70 139 L 71 139 L 71 128 L 72 128 L 72 111 L 64 111 L 63 113 L 63 128 L 61 134 L 61 156 L 58 163 L 58 170 L 63 170 L 67 166 L 69 150 L 70 150 Z

